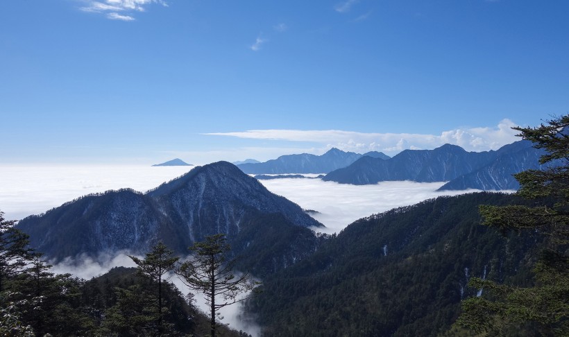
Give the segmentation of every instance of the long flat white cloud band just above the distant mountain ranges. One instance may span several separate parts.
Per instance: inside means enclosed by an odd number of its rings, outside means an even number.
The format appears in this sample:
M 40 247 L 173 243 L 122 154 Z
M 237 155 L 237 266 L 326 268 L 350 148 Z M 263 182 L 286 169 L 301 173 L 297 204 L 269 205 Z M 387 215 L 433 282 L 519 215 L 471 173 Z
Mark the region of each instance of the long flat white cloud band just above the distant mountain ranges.
M 518 140 L 515 123 L 504 119 L 496 127 L 457 128 L 440 135 L 412 133 L 364 133 L 343 130 L 247 130 L 244 132 L 214 132 L 205 135 L 238 137 L 246 139 L 270 139 L 280 141 L 305 141 L 325 147 L 366 152 L 378 150 L 388 154 L 405 149 L 432 149 L 443 144 L 455 144 L 469 151 L 496 150 Z

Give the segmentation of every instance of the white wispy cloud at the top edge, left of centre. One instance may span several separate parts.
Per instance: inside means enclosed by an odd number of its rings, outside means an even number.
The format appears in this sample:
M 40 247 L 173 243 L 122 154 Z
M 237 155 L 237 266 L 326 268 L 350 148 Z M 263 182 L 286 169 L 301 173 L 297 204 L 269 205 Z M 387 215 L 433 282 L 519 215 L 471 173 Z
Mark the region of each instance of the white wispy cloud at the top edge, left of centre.
M 101 13 L 108 19 L 122 21 L 135 20 L 133 16 L 135 12 L 144 12 L 146 7 L 153 3 L 158 3 L 164 7 L 168 6 L 168 3 L 164 0 L 85 0 L 84 3 L 85 6 L 80 8 L 84 12 Z M 118 12 L 124 14 L 119 14 Z

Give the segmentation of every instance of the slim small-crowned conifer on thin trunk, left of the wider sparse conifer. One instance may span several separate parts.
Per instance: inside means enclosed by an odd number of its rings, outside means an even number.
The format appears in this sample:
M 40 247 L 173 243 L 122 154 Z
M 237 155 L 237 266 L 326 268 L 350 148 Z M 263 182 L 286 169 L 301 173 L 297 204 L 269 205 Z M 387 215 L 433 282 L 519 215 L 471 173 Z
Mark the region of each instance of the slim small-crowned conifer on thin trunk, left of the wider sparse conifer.
M 138 275 L 158 284 L 158 331 L 162 333 L 162 281 L 164 275 L 174 269 L 180 258 L 173 256 L 173 251 L 162 241 L 155 245 L 151 252 L 146 253 L 144 259 L 130 255 L 129 257 L 137 264 Z

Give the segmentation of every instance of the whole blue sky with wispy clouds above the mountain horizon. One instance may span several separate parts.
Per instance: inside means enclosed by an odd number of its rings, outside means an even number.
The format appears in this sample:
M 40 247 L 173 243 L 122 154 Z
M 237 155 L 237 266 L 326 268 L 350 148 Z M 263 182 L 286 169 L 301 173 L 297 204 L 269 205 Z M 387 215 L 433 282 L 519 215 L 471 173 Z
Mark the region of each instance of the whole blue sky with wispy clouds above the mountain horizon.
M 0 1 L 0 163 L 489 150 L 569 110 L 569 1 Z

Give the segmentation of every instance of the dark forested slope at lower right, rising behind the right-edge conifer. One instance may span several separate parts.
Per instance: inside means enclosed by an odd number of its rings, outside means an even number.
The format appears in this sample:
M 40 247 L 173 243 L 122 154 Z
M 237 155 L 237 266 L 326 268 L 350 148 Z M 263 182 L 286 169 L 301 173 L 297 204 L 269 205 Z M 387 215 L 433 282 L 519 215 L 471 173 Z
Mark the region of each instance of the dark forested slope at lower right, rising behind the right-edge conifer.
M 266 336 L 437 336 L 479 291 L 466 287 L 470 277 L 530 279 L 536 238 L 479 225 L 478 205 L 513 202 L 522 201 L 471 193 L 360 219 L 266 277 L 248 309 Z

